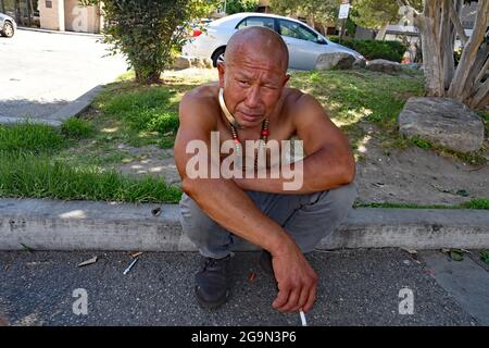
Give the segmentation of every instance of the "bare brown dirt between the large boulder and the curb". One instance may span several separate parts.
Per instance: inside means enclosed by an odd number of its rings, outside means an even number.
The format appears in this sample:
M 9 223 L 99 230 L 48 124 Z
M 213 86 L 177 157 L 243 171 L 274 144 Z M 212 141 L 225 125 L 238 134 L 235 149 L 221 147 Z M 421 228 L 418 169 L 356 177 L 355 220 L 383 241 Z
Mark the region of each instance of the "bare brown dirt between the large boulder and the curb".
M 415 146 L 386 151 L 375 135 L 359 151 L 360 203 L 459 204 L 489 198 L 488 165 L 472 166 Z

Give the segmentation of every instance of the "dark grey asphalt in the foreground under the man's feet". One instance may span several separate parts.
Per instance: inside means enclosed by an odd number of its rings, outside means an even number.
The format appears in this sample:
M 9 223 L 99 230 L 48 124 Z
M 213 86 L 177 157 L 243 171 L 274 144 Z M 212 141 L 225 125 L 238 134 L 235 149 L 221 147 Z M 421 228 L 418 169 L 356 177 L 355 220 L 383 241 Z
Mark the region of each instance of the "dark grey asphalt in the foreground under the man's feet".
M 428 254 L 446 258 L 438 251 Z M 77 268 L 93 256 L 98 256 L 96 263 Z M 123 275 L 131 261 L 127 252 L 3 251 L 0 323 L 300 325 L 298 313 L 283 314 L 271 307 L 276 290 L 273 279 L 261 271 L 259 256 L 236 253 L 230 301 L 218 310 L 206 311 L 193 298 L 193 274 L 200 258 L 197 253 L 143 253 Z M 399 249 L 316 251 L 309 259 L 319 274 L 318 298 L 306 314 L 310 325 L 484 324 L 450 289 L 437 283 L 423 254 L 421 262 Z M 475 282 L 488 275 L 477 268 L 481 273 L 474 274 Z M 253 281 L 251 273 L 255 273 Z M 408 298 L 405 293 L 400 297 L 403 288 L 412 291 L 412 314 L 400 313 L 400 307 L 409 308 L 400 306 Z M 76 315 L 73 311 L 75 301 L 82 299 L 73 296 L 76 289 L 86 290 L 87 314 Z

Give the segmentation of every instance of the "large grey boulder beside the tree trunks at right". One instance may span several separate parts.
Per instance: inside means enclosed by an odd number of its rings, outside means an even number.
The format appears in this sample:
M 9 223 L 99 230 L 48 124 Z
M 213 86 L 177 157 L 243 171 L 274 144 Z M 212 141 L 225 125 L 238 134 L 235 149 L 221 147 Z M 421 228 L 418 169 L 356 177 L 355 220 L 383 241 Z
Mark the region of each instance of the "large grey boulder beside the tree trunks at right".
M 450 98 L 410 98 L 399 114 L 399 130 L 457 152 L 477 151 L 484 141 L 479 115 Z

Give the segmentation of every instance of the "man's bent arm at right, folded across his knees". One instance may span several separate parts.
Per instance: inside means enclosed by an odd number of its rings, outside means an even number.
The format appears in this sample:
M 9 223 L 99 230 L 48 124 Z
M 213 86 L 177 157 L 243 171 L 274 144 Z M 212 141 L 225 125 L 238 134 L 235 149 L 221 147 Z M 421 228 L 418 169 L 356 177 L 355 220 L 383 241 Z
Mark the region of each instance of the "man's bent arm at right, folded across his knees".
M 323 107 L 314 97 L 302 95 L 291 112 L 306 154 L 301 160 L 302 187 L 284 190 L 284 183 L 290 179 L 271 178 L 269 171 L 266 178 L 236 178 L 235 183 L 246 190 L 274 194 L 311 194 L 351 183 L 355 175 L 355 162 L 348 138 L 329 120 Z M 296 170 L 294 164 L 291 170 Z

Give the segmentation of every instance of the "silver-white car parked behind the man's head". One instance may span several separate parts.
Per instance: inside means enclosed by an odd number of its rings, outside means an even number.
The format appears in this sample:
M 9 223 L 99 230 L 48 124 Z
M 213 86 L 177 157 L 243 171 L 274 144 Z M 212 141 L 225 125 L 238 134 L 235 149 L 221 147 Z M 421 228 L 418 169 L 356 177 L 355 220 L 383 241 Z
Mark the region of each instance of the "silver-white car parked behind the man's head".
M 229 38 L 237 30 L 249 26 L 266 26 L 280 34 L 289 48 L 289 69 L 313 70 L 317 58 L 324 53 L 346 52 L 355 60 L 365 60 L 359 52 L 329 41 L 306 24 L 280 15 L 267 13 L 236 13 L 193 30 L 193 37 L 184 46 L 184 55 L 210 58 L 216 66 L 224 58 Z

